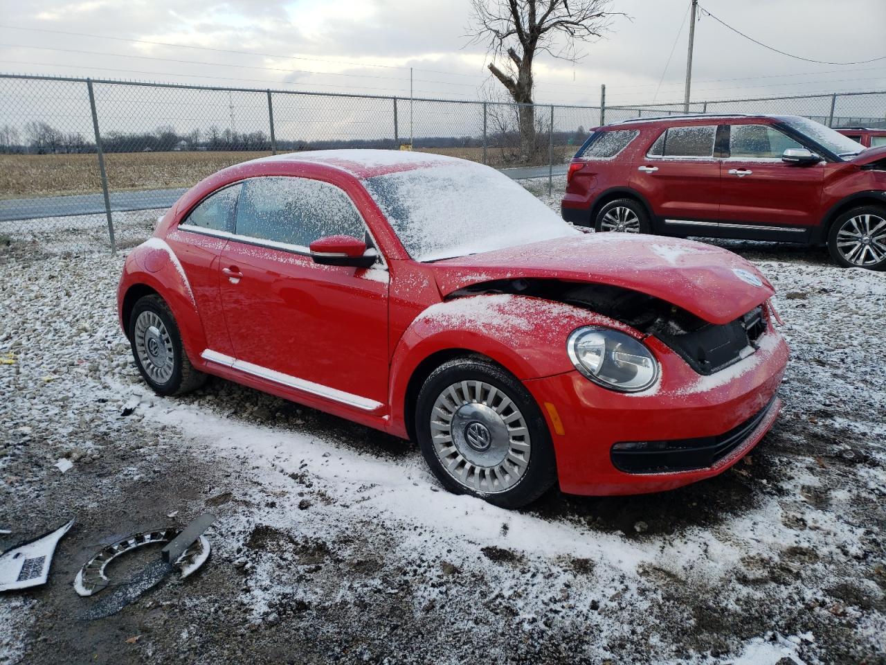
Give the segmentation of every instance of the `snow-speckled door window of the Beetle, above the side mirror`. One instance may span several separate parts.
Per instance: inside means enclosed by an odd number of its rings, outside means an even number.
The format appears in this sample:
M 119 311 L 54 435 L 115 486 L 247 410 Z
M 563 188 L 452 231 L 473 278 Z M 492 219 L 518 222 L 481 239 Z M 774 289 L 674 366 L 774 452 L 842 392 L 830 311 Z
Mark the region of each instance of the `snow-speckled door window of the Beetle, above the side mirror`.
M 299 177 L 247 180 L 237 205 L 237 235 L 307 247 L 324 236 L 363 239 L 363 220 L 334 184 Z

